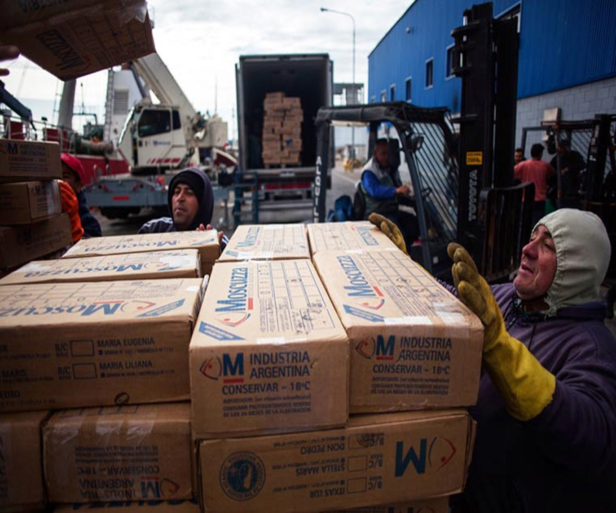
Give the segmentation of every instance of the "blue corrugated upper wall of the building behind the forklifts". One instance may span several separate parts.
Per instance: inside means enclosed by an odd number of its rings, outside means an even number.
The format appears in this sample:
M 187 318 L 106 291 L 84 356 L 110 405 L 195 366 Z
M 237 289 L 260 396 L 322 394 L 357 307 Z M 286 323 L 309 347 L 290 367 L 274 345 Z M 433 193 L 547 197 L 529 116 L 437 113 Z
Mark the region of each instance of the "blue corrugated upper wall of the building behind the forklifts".
M 412 77 L 415 105 L 459 110 L 460 79 L 445 79 L 451 29 L 479 1 L 416 0 L 368 57 L 368 101 L 396 85 L 405 99 Z M 521 5 L 518 97 L 616 76 L 615 0 L 496 0 L 498 16 Z M 409 30 L 407 31 L 407 27 Z M 426 89 L 426 60 L 434 59 L 434 86 Z

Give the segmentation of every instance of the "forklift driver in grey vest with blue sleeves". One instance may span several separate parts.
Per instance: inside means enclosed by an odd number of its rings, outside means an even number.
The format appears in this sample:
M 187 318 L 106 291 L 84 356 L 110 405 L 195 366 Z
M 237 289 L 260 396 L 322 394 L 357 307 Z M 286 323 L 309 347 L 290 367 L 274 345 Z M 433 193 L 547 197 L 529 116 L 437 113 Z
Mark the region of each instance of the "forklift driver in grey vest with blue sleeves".
M 400 231 L 407 247 L 419 237 L 419 225 L 415 215 L 400 210 L 400 203 L 413 205 L 409 186 L 402 183 L 398 169 L 389 166 L 389 148 L 387 139 L 376 141 L 372 152 L 372 166 L 363 170 L 359 188 L 365 198 L 364 219 L 372 212 L 385 215 L 392 220 Z

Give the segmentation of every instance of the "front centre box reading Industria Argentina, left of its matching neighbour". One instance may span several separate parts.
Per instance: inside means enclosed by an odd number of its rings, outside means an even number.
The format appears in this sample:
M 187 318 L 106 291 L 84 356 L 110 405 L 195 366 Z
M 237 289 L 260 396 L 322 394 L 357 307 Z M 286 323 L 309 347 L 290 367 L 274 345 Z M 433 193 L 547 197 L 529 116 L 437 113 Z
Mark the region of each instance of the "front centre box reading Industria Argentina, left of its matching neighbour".
M 195 438 L 344 425 L 348 341 L 309 260 L 216 264 L 190 384 Z

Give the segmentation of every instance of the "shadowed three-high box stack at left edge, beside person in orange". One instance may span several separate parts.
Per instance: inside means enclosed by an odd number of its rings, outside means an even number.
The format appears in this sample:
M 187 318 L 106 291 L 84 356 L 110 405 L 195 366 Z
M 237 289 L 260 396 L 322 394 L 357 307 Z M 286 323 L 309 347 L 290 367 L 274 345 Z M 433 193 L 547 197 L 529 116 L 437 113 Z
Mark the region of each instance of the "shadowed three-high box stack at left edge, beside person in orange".
M 0 140 L 0 276 L 73 241 L 56 179 L 56 143 Z

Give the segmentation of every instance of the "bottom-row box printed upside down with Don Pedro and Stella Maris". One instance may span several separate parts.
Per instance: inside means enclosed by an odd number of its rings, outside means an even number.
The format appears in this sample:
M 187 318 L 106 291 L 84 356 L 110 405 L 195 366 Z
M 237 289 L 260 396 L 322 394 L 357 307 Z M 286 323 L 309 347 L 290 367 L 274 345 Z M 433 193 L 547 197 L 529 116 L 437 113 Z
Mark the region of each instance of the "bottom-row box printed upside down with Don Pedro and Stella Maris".
M 203 440 L 205 512 L 322 512 L 463 489 L 474 441 L 464 410 L 351 417 L 347 428 Z

